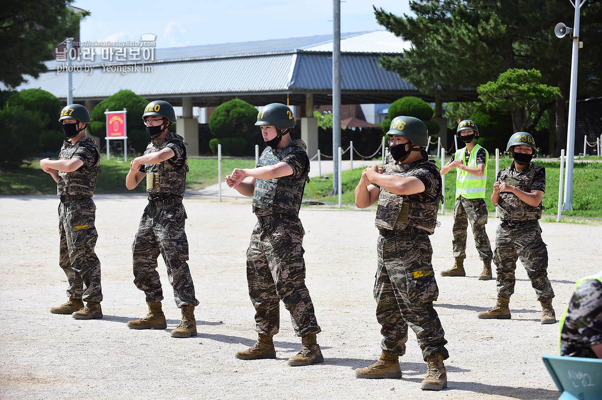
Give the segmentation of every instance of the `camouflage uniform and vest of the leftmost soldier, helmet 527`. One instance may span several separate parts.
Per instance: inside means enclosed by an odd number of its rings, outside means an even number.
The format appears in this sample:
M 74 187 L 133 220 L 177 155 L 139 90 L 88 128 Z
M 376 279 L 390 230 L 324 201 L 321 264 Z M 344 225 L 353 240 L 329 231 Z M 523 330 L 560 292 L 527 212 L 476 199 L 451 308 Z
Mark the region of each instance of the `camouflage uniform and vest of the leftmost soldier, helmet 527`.
M 83 137 L 75 144 L 63 142 L 59 159 L 80 159 L 84 165 L 72 172 L 58 171 L 59 265 L 67 275 L 67 296 L 84 301 L 102 301 L 101 262 L 94 248 L 96 206 L 92 200 L 101 170 L 96 142 Z

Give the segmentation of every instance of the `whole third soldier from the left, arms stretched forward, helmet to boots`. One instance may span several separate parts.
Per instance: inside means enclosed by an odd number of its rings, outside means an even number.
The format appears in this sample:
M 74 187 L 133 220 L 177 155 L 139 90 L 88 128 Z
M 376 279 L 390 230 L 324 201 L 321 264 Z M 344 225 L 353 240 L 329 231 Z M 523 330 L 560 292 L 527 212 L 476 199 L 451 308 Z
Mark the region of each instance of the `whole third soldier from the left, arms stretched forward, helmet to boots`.
M 255 168 L 235 168 L 226 176 L 231 188 L 253 197 L 257 224 L 247 250 L 247 283 L 255 306 L 257 342 L 235 357 L 242 360 L 276 358 L 273 336 L 279 331 L 279 304 L 284 303 L 302 349 L 288 365 L 321 363 L 324 357 L 316 340 L 320 327 L 305 286 L 303 235 L 299 209 L 305 182 L 309 182 L 309 158 L 302 140 L 291 140 L 295 125 L 288 106 L 272 103 L 257 115 L 265 150 Z

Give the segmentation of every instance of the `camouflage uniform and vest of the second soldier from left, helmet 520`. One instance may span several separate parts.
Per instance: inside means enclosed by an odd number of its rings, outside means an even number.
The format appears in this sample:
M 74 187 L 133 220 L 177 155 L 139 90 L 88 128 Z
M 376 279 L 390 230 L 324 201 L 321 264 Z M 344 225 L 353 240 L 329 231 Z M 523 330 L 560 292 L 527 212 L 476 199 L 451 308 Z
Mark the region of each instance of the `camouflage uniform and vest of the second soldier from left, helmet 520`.
M 175 156 L 158 164 L 144 164 L 149 203 L 144 209 L 138 232 L 132 243 L 134 283 L 146 294 L 146 301 L 163 300 L 157 272 L 157 257 L 163 256 L 167 276 L 173 286 L 176 306 L 197 306 L 194 284 L 188 268 L 188 239 L 184 232 L 187 218 L 182 198 L 186 188 L 188 162 L 182 137 L 169 132 L 163 140 L 151 141 L 144 154 L 169 147 Z

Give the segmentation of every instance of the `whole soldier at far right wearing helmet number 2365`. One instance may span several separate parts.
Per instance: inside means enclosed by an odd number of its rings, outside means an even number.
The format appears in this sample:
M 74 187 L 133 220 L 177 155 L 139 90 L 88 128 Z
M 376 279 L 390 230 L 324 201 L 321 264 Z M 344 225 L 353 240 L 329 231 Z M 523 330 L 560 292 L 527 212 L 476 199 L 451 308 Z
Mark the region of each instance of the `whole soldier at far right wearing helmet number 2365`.
M 548 280 L 548 250 L 541 239 L 541 199 L 545 192 L 545 168 L 533 164 L 535 140 L 526 132 L 510 137 L 506 151 L 514 161 L 497 174 L 491 203 L 499 206 L 500 226 L 495 231 L 494 263 L 497 273 L 497 304 L 478 313 L 482 319 L 510 319 L 510 296 L 520 258 L 541 303 L 541 323 L 554 324 L 554 291 Z

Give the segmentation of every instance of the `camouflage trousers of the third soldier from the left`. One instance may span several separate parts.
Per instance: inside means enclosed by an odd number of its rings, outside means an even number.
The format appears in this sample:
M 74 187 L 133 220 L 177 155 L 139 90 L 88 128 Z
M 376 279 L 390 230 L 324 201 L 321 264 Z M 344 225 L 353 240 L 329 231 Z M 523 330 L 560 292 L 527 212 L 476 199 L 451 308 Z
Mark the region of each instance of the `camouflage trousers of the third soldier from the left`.
M 297 336 L 320 333 L 314 304 L 305 286 L 305 231 L 299 218 L 255 225 L 247 250 L 247 283 L 255 307 L 255 330 L 279 331 L 279 304 L 291 313 Z

